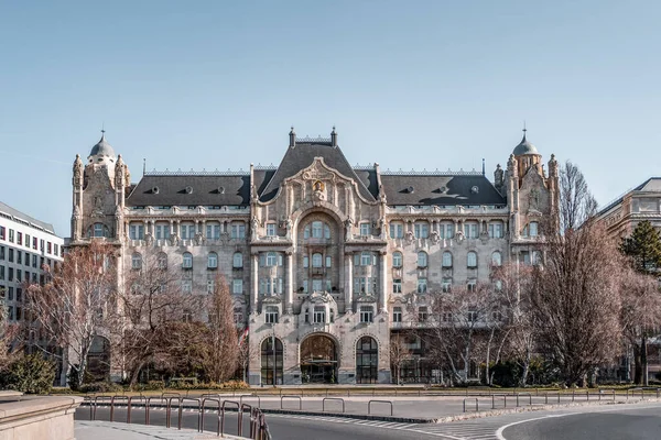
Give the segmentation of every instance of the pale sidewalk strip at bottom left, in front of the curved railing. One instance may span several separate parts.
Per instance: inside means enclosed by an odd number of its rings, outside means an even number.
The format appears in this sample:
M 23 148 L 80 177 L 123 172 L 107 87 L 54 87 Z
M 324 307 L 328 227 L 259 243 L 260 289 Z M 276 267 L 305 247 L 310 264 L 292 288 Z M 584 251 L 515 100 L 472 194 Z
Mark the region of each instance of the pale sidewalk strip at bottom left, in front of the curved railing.
M 201 433 L 192 429 L 173 429 L 158 426 L 127 425 L 109 421 L 75 421 L 76 440 L 209 440 L 216 435 Z M 228 436 L 226 439 L 241 439 Z

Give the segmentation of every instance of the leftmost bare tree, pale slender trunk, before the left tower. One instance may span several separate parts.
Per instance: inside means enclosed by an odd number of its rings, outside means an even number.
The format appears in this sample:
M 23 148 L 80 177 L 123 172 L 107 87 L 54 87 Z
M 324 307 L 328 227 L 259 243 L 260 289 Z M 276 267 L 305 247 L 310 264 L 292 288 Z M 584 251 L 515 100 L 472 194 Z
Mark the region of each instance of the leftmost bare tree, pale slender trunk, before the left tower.
M 77 388 L 87 371 L 88 354 L 95 337 L 106 323 L 116 294 L 115 249 L 93 241 L 89 246 L 72 249 L 44 285 L 26 288 L 28 309 L 47 340 L 37 346 L 64 362 L 76 374 L 71 385 Z M 50 267 L 44 265 L 44 271 Z M 62 349 L 64 355 L 48 351 Z

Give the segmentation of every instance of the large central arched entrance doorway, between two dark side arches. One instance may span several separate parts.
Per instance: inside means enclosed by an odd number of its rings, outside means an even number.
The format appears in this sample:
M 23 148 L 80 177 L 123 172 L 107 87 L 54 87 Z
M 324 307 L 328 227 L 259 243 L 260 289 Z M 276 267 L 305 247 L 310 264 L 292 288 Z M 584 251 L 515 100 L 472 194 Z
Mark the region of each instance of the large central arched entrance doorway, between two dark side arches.
M 337 346 L 324 334 L 314 334 L 301 343 L 301 375 L 304 384 L 337 383 Z

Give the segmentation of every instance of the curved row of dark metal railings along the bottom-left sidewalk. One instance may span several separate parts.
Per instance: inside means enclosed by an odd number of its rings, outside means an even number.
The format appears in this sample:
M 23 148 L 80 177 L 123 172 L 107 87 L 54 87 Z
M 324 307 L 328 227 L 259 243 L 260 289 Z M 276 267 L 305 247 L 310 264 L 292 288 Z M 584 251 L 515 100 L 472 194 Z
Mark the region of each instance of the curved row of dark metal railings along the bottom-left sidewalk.
M 253 440 L 271 440 L 271 433 L 267 419 L 260 408 L 242 404 L 235 400 L 223 400 L 221 398 L 213 397 L 180 397 L 173 396 L 172 394 L 178 393 L 163 393 L 159 397 L 145 397 L 145 396 L 89 396 L 85 397 L 83 405 L 89 406 L 89 419 L 97 419 L 97 409 L 99 406 L 107 406 L 110 409 L 110 421 L 115 421 L 116 413 L 120 408 L 127 409 L 127 424 L 132 424 L 131 413 L 137 407 L 144 409 L 144 425 L 150 425 L 150 411 L 154 408 L 165 409 L 165 426 L 171 428 L 172 426 L 172 408 L 175 407 L 177 410 L 176 427 L 182 429 L 183 426 L 183 413 L 184 409 L 197 413 L 197 432 L 204 432 L 204 419 L 205 413 L 210 410 L 216 411 L 217 428 L 216 435 L 224 436 L 225 432 L 225 414 L 229 410 L 237 413 L 237 432 L 241 437 L 243 432 L 243 413 L 248 413 L 249 420 L 249 438 Z M 250 396 L 258 397 L 258 396 Z M 258 397 L 259 399 L 259 397 Z M 158 402 L 158 404 L 154 404 Z M 259 400 L 258 400 L 259 402 Z M 188 403 L 188 405 L 186 405 Z M 193 405 L 191 405 L 193 404 Z M 207 404 L 212 404 L 210 406 Z M 214 405 L 215 404 L 215 405 Z

